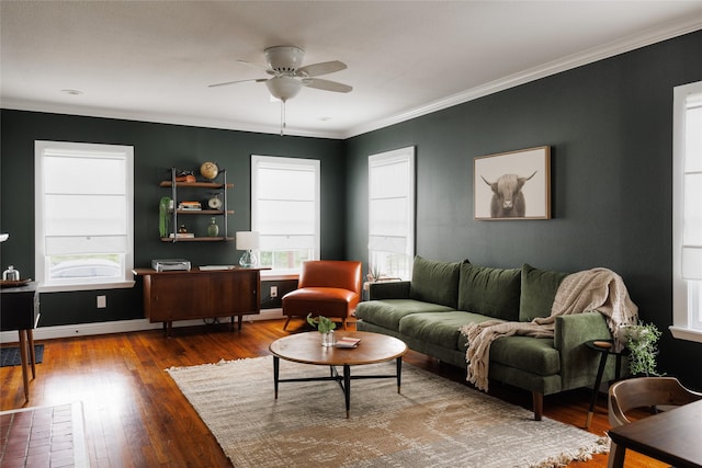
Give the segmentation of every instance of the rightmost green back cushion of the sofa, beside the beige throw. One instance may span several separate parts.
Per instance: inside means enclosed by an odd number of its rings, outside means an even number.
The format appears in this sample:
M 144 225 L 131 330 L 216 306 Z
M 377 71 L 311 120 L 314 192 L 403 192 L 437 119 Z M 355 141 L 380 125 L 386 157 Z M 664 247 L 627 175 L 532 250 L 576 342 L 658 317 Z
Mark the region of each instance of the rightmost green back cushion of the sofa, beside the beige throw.
M 536 317 L 548 317 L 553 299 L 567 273 L 522 266 L 522 287 L 519 303 L 519 321 L 530 322 Z

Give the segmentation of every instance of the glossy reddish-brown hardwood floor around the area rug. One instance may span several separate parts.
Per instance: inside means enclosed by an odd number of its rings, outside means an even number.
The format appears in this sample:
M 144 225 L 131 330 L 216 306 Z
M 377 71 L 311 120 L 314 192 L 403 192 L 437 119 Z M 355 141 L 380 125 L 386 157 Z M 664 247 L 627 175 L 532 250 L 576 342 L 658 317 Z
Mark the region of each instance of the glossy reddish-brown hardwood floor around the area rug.
M 92 467 L 226 467 L 230 466 L 197 413 L 176 387 L 166 368 L 270 354 L 273 340 L 295 332 L 282 320 L 245 323 L 241 331 L 214 324 L 176 328 L 171 338 L 159 330 L 37 341 L 44 362 L 30 384 L 24 403 L 21 367 L 0 368 L 0 410 L 83 403 L 87 445 Z M 464 370 L 410 352 L 405 361 L 446 378 L 464 381 Z M 271 384 L 272 385 L 272 384 Z M 529 408 L 523 390 L 491 384 L 490 393 Z M 582 427 L 590 392 L 576 390 L 544 399 L 544 416 Z M 610 427 L 607 402 L 599 400 L 590 432 Z M 605 467 L 607 455 L 570 467 Z M 626 467 L 664 467 L 627 453 Z

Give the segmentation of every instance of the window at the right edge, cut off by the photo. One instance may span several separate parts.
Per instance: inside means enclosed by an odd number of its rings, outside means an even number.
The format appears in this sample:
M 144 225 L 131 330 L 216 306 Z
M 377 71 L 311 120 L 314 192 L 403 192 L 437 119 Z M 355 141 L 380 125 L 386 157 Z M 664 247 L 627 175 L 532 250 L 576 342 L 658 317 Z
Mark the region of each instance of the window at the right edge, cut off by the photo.
M 673 336 L 702 342 L 702 81 L 673 100 Z

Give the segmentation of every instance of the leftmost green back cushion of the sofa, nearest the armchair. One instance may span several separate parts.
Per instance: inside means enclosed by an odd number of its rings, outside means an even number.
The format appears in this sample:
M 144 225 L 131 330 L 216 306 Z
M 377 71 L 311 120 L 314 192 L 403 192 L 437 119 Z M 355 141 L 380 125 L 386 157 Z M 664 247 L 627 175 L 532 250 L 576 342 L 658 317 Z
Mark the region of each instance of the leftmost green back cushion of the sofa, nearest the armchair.
M 410 299 L 456 308 L 461 262 L 440 262 L 415 256 Z

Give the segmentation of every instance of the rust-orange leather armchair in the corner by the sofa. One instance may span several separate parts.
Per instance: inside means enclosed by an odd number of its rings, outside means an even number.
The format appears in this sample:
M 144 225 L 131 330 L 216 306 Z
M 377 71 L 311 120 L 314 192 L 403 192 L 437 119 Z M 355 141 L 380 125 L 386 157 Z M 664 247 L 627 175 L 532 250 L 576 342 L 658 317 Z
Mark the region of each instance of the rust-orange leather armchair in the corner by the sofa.
M 303 263 L 297 289 L 283 296 L 283 315 L 287 316 L 283 330 L 293 317 L 324 316 L 347 319 L 361 300 L 361 262 L 314 260 Z

